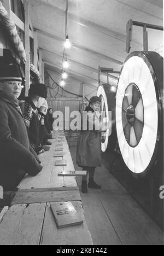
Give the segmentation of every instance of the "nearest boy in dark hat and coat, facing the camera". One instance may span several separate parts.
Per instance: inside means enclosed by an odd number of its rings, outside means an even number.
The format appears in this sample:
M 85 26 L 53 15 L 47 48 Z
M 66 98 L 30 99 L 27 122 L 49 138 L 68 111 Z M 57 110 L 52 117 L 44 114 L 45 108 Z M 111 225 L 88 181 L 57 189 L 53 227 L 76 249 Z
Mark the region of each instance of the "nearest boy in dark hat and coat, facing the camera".
M 17 65 L 0 68 L 0 185 L 12 191 L 26 173 L 41 170 L 37 154 L 30 147 L 24 118 L 17 98 L 22 78 Z

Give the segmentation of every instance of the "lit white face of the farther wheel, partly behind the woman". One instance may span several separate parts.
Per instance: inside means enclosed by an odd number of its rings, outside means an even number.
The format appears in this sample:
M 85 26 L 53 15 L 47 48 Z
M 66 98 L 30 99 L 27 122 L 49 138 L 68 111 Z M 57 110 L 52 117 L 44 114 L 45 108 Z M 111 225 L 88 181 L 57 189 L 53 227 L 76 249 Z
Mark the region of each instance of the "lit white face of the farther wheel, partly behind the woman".
M 101 97 L 101 111 L 105 112 L 104 122 L 109 122 L 109 115 L 108 115 L 108 102 L 107 102 L 107 96 L 106 92 L 104 91 L 103 86 L 99 86 L 97 91 L 97 96 Z M 109 137 L 109 129 L 107 132 L 104 133 L 104 137 L 102 137 L 101 141 L 101 149 L 102 152 L 106 152 L 108 147 L 108 137 Z

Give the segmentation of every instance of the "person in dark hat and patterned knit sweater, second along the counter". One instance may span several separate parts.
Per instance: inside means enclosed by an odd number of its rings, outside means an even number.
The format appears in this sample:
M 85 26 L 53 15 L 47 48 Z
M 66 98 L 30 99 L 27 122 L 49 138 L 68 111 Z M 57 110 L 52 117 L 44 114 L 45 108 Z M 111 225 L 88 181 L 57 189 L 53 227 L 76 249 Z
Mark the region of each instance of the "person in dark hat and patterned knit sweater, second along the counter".
M 21 104 L 25 124 L 30 138 L 31 147 L 37 154 L 44 152 L 44 146 L 39 138 L 39 115 L 37 108 L 40 108 L 47 97 L 45 84 L 31 84 L 25 102 Z M 47 148 L 45 148 L 47 150 Z

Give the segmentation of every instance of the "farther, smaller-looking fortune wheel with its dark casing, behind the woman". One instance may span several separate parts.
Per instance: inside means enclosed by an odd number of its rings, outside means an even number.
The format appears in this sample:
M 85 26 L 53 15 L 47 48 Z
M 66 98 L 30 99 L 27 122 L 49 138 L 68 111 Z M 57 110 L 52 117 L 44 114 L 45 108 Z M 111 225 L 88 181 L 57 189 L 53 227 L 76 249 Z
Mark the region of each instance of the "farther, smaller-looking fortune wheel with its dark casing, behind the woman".
M 107 130 L 107 132 L 103 133 L 103 136 L 101 137 L 101 149 L 102 149 L 102 152 L 104 153 L 110 150 L 113 151 L 116 144 L 116 128 L 115 128 L 116 89 L 114 88 L 114 86 L 110 84 L 100 85 L 97 91 L 97 96 L 101 97 L 101 111 L 104 112 L 104 119 L 107 122 L 111 121 L 112 119 L 114 123 L 114 125 L 112 126 L 112 133 L 111 131 Z

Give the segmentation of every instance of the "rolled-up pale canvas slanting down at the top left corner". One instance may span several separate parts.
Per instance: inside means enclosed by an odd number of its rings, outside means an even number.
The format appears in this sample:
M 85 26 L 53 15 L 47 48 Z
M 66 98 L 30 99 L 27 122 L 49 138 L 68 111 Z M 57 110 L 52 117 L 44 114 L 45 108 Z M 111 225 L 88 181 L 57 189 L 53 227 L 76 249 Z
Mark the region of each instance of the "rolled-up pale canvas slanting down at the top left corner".
M 17 33 L 16 26 L 13 20 L 9 18 L 7 10 L 4 8 L 2 2 L 0 1 L 0 19 L 3 26 L 10 34 L 10 39 L 13 42 L 17 54 L 19 55 L 21 61 L 26 63 L 26 52 L 24 44 L 22 43 L 19 34 Z

